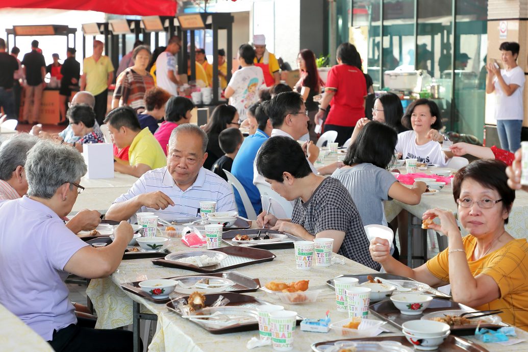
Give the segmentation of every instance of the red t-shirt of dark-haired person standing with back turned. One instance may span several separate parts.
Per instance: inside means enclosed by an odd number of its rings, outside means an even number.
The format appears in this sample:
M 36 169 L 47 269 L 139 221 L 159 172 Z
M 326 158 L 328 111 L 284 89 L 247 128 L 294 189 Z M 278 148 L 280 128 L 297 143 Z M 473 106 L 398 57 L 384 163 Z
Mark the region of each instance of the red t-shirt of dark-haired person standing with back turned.
M 335 65 L 328 72 L 326 89 L 336 89 L 330 102 L 332 108 L 328 113 L 328 125 L 354 127 L 357 120 L 365 117 L 363 107 L 366 96 L 366 82 L 363 72 L 355 66 Z

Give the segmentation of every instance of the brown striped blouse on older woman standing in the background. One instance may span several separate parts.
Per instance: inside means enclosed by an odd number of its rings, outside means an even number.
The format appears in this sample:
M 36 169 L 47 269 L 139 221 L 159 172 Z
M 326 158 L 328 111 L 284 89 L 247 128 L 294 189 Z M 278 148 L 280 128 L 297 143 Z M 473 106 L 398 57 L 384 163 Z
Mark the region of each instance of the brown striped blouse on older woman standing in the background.
M 154 88 L 154 79 L 147 72 L 140 75 L 131 68 L 127 68 L 117 77 L 114 99 L 119 99 L 119 106 L 129 106 L 136 112 L 145 110 L 145 92 Z

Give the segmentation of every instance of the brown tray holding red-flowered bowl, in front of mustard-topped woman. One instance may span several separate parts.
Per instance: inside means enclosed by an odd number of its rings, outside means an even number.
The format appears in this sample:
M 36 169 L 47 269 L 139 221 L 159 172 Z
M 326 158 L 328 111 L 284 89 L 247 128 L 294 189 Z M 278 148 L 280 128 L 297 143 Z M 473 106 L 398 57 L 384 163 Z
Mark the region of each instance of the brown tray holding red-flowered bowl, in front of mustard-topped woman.
M 378 303 L 374 303 L 369 307 L 369 309 L 373 313 L 373 315 L 385 321 L 388 321 L 390 324 L 400 329 L 402 328 L 402 324 L 404 322 L 410 320 L 419 320 L 421 319 L 423 314 L 451 309 L 473 310 L 472 308 L 461 305 L 460 303 L 438 298 L 433 298 L 429 307 L 426 308 L 421 315 L 416 316 L 402 314 L 400 310 L 394 306 L 394 303 L 392 303 L 391 300 L 384 300 Z M 476 327 L 477 324 L 451 326 L 451 334 L 458 336 L 475 335 Z M 488 329 L 498 329 L 502 326 L 494 324 L 480 324 L 480 327 Z

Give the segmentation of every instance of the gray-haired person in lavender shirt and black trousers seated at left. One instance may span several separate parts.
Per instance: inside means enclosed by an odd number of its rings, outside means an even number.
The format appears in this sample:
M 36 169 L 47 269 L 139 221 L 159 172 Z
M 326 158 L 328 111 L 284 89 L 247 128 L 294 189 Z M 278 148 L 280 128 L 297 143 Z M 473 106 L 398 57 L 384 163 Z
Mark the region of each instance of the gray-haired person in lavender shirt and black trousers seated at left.
M 81 154 L 68 146 L 42 140 L 27 153 L 27 195 L 0 203 L 0 303 L 56 351 L 130 351 L 130 331 L 77 321 L 63 283 L 68 273 L 107 277 L 132 238 L 131 226 L 121 222 L 114 242 L 96 249 L 64 225 L 86 171 Z

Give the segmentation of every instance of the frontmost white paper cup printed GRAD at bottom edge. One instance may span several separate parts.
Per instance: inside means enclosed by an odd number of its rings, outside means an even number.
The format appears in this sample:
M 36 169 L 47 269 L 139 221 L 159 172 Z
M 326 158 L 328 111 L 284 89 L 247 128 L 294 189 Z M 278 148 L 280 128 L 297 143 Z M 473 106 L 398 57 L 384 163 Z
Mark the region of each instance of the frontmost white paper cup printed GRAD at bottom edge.
M 294 330 L 297 312 L 279 310 L 269 313 L 271 323 L 271 345 L 276 351 L 289 351 L 294 348 Z

